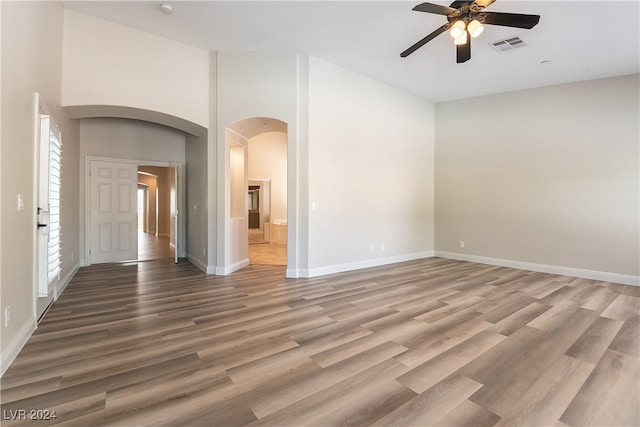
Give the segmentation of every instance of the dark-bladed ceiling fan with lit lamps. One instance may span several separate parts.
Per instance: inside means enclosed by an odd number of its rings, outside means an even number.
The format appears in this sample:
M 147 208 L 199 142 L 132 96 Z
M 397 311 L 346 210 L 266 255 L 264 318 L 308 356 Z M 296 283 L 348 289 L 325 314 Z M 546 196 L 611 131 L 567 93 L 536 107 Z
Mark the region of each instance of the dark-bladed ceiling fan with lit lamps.
M 540 21 L 539 15 L 521 13 L 485 12 L 484 8 L 495 0 L 454 1 L 450 6 L 421 3 L 413 8 L 418 12 L 445 15 L 447 23 L 400 54 L 405 58 L 445 31 L 449 31 L 456 45 L 458 64 L 471 59 L 471 38 L 482 33 L 484 24 L 531 29 Z

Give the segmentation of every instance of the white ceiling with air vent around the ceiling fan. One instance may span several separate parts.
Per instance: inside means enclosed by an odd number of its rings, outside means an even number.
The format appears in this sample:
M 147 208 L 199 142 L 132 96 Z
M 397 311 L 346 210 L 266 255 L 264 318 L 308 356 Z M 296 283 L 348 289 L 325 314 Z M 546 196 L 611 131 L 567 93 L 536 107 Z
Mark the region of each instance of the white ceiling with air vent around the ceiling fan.
M 414 1 L 67 1 L 64 6 L 212 51 L 306 53 L 441 102 L 640 72 L 640 1 L 498 0 L 486 10 L 540 15 L 531 30 L 486 26 L 471 60 L 456 64 L 446 22 Z M 433 1 L 449 5 L 450 2 Z M 524 48 L 488 43 L 520 36 Z M 549 61 L 548 63 L 541 63 Z

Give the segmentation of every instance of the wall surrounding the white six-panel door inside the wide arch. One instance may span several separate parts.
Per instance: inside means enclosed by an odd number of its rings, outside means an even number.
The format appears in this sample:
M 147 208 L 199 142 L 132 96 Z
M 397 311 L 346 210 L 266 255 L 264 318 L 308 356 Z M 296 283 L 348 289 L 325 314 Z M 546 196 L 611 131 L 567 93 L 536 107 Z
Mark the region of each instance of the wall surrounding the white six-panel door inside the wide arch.
M 87 156 L 138 160 L 139 164 L 184 164 L 186 134 L 139 120 L 95 118 L 80 120 L 80 229 L 85 230 L 85 161 Z M 84 259 L 85 235 L 81 236 Z

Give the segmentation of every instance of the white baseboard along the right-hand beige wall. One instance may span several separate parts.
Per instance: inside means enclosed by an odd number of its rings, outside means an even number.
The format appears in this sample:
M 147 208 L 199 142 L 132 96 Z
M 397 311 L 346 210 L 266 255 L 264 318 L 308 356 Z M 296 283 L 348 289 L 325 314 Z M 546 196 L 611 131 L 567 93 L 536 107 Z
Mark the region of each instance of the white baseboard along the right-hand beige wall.
M 435 251 L 435 256 L 456 259 L 459 261 L 477 262 L 480 264 L 497 265 L 500 267 L 517 268 L 520 270 L 537 271 L 540 273 L 558 274 L 562 276 L 580 277 L 589 280 L 621 283 L 623 285 L 640 286 L 640 276 L 609 273 L 606 271 L 585 270 L 582 268 L 562 267 L 557 265 L 536 264 L 532 262 L 514 261 L 501 258 L 490 258 L 477 255 L 460 254 L 457 252 Z

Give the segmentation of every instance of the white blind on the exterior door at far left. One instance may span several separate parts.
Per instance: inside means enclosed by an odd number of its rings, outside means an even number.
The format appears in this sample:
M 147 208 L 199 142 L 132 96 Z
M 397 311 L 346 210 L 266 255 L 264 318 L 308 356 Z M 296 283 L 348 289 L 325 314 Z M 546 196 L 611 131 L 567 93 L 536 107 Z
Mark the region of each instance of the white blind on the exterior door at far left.
M 47 277 L 52 284 L 60 280 L 62 268 L 62 234 L 60 201 L 62 190 L 62 141 L 55 123 L 49 128 L 49 241 L 47 245 Z

